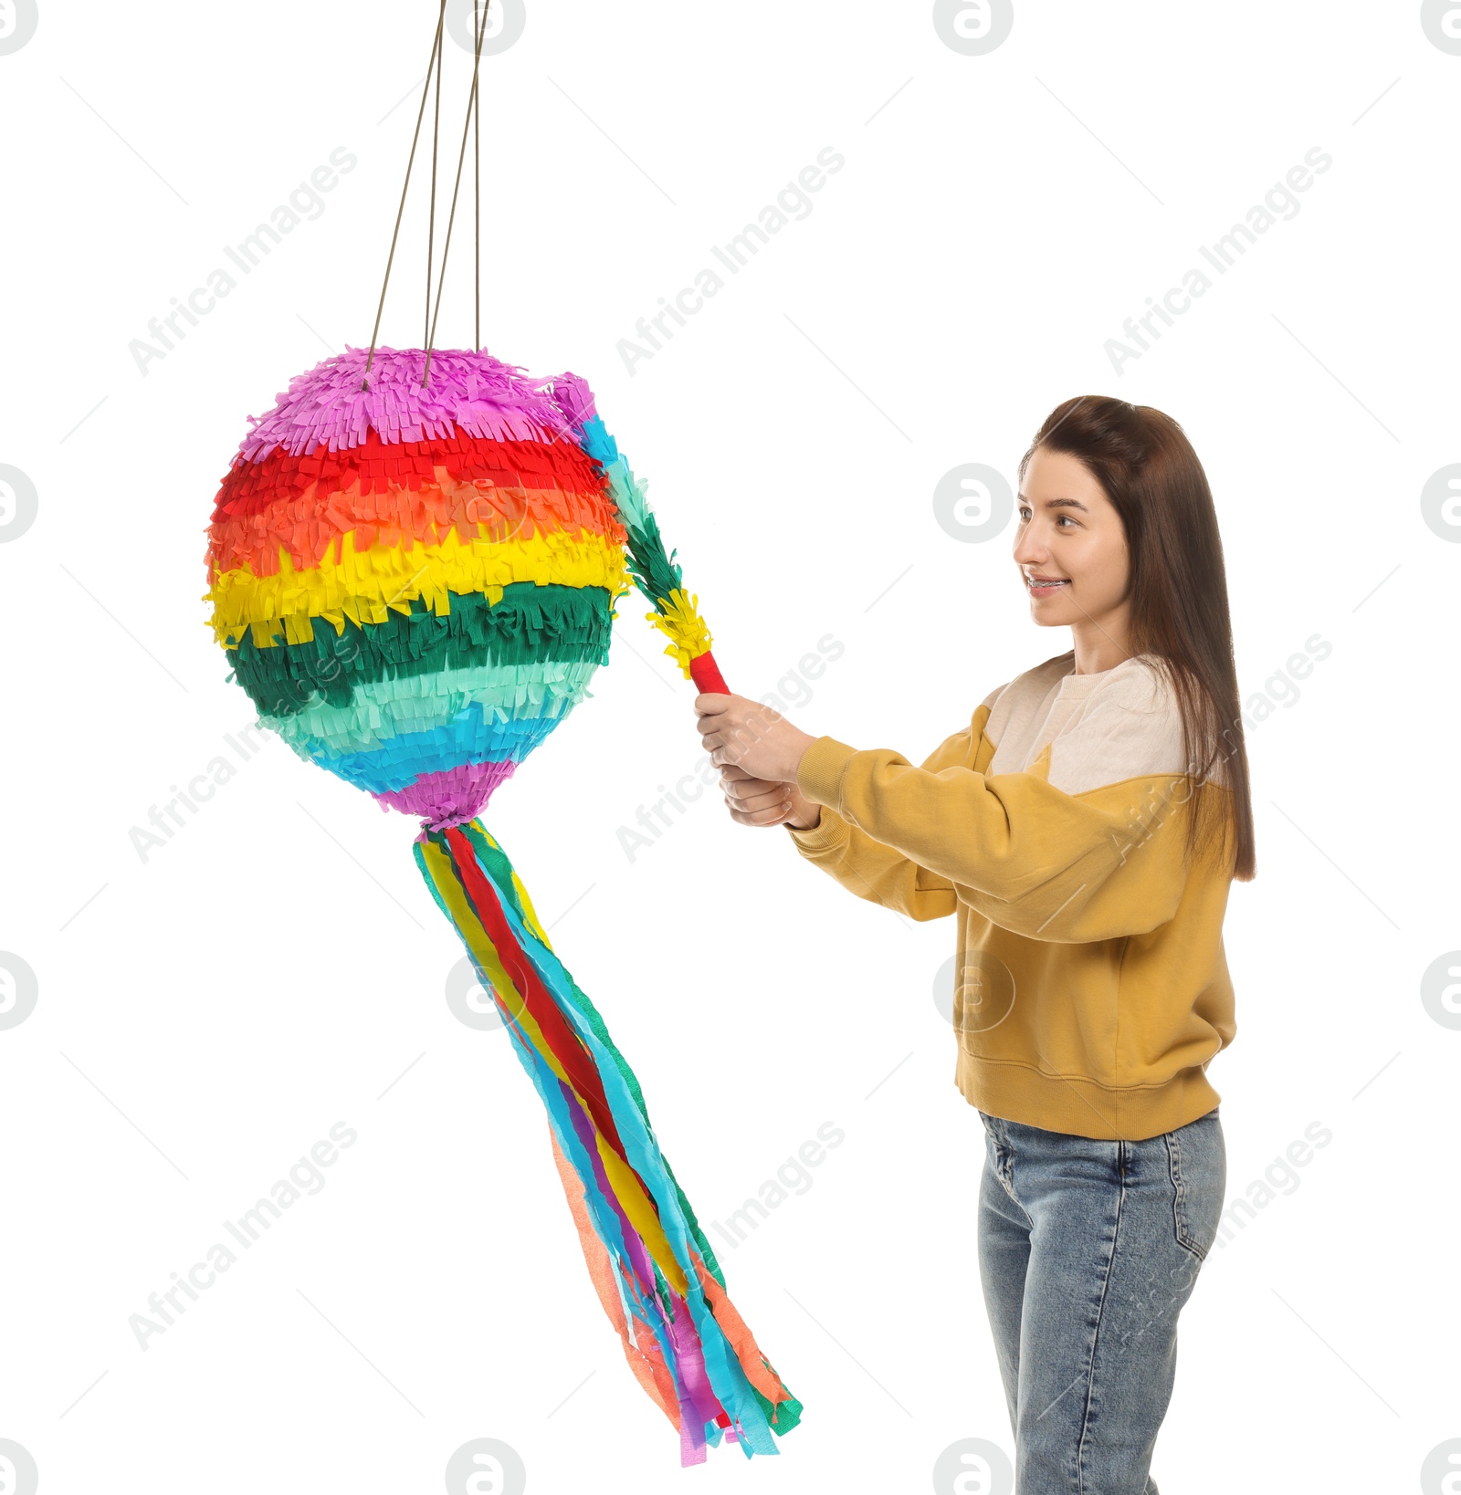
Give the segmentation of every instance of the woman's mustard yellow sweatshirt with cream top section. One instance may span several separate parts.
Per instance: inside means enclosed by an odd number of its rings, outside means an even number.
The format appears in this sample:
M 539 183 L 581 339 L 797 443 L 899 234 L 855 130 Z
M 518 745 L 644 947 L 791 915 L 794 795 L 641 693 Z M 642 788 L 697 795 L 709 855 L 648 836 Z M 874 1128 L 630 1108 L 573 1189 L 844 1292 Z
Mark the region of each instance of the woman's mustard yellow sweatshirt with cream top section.
M 1141 1141 L 1219 1102 L 1232 1042 L 1231 861 L 1184 855 L 1196 795 L 1175 697 L 1147 656 L 1074 674 L 1074 653 L 993 691 L 921 767 L 818 737 L 787 827 L 849 893 L 956 915 L 954 1082 L 993 1117 Z

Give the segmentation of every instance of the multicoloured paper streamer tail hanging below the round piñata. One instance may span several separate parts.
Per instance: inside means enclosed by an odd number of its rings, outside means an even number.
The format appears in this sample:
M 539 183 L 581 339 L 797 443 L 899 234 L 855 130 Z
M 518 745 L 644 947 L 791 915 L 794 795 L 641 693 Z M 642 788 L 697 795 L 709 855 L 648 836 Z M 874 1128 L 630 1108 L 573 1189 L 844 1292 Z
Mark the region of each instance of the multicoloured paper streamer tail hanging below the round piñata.
M 725 1278 L 649 1124 L 634 1072 L 549 945 L 480 821 L 423 831 L 416 861 L 547 1108 L 553 1160 L 589 1275 L 630 1368 L 679 1428 L 680 1464 L 722 1434 L 776 1453 L 802 1402 L 725 1293 Z

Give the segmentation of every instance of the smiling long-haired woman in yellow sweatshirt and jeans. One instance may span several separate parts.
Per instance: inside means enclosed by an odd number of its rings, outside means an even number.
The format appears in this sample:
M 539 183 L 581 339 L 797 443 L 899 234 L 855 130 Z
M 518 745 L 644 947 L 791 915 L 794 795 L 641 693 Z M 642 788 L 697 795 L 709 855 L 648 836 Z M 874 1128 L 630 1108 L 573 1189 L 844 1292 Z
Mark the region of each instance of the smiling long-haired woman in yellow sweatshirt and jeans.
M 985 1130 L 979 1274 L 1020 1495 L 1154 1495 L 1177 1316 L 1217 1233 L 1208 1060 L 1253 815 L 1207 477 L 1150 407 L 1080 396 L 1020 462 L 1014 561 L 1072 649 L 921 767 L 695 698 L 731 818 L 848 891 L 956 915 L 956 1082 Z

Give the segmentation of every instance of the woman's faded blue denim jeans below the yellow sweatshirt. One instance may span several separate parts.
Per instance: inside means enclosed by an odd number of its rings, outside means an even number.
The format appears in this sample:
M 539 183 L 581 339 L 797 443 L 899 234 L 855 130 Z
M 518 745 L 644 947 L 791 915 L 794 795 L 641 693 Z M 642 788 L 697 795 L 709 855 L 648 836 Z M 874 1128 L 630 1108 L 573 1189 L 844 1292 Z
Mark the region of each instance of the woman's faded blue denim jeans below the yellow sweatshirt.
M 1141 1142 L 979 1117 L 979 1277 L 1017 1495 L 1156 1495 L 1177 1314 L 1223 1206 L 1217 1109 Z

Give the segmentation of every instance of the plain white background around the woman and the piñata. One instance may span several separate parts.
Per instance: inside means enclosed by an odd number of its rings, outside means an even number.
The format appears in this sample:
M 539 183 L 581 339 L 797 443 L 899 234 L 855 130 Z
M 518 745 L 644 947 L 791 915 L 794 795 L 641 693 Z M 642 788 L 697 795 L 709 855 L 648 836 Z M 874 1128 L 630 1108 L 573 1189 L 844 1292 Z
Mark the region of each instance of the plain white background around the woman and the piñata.
M 1231 1196 L 1311 1123 L 1332 1142 L 1214 1248 L 1154 1476 L 1413 1489 L 1461 1438 L 1461 1032 L 1421 1002 L 1461 945 L 1461 547 L 1421 510 L 1461 460 L 1461 57 L 1410 3 L 1015 12 L 962 55 L 929 4 L 532 0 L 485 64 L 485 342 L 591 381 L 734 689 L 830 634 L 787 715 L 912 761 L 1069 646 L 1029 622 L 1012 529 L 939 528 L 939 477 L 1012 478 L 1075 393 L 1184 425 L 1244 700 L 1332 644 L 1249 739 L 1259 873 L 1232 890 L 1238 1036 L 1210 1072 Z M 803 1426 L 682 1473 L 537 1096 L 447 1006 L 461 951 L 414 824 L 277 740 L 247 764 L 224 743 L 253 712 L 205 626 L 203 526 L 245 417 L 369 341 L 434 16 L 42 0 L 0 55 L 0 463 L 37 493 L 0 544 L 0 949 L 37 979 L 0 1032 L 0 1438 L 55 1495 L 432 1491 L 477 1437 L 534 1491 L 926 1489 L 956 1440 L 1011 1443 L 982 1133 L 933 996 L 953 924 L 854 900 L 713 792 L 628 858 L 619 828 L 700 759 L 637 597 L 594 698 L 489 807 L 701 1224 L 845 1132 L 739 1247 L 710 1232 Z M 444 155 L 468 75 L 449 45 Z M 336 147 L 359 166 L 323 212 L 144 375 L 129 342 Z M 813 211 L 630 374 L 636 320 L 824 147 L 846 166 Z M 1301 211 L 1117 374 L 1123 320 L 1313 147 L 1334 164 Z M 395 345 L 420 342 L 423 203 Z M 458 235 L 446 345 L 471 341 Z M 144 861 L 132 828 L 220 753 L 236 776 Z M 359 1139 L 326 1187 L 141 1350 L 129 1317 L 336 1121 Z

